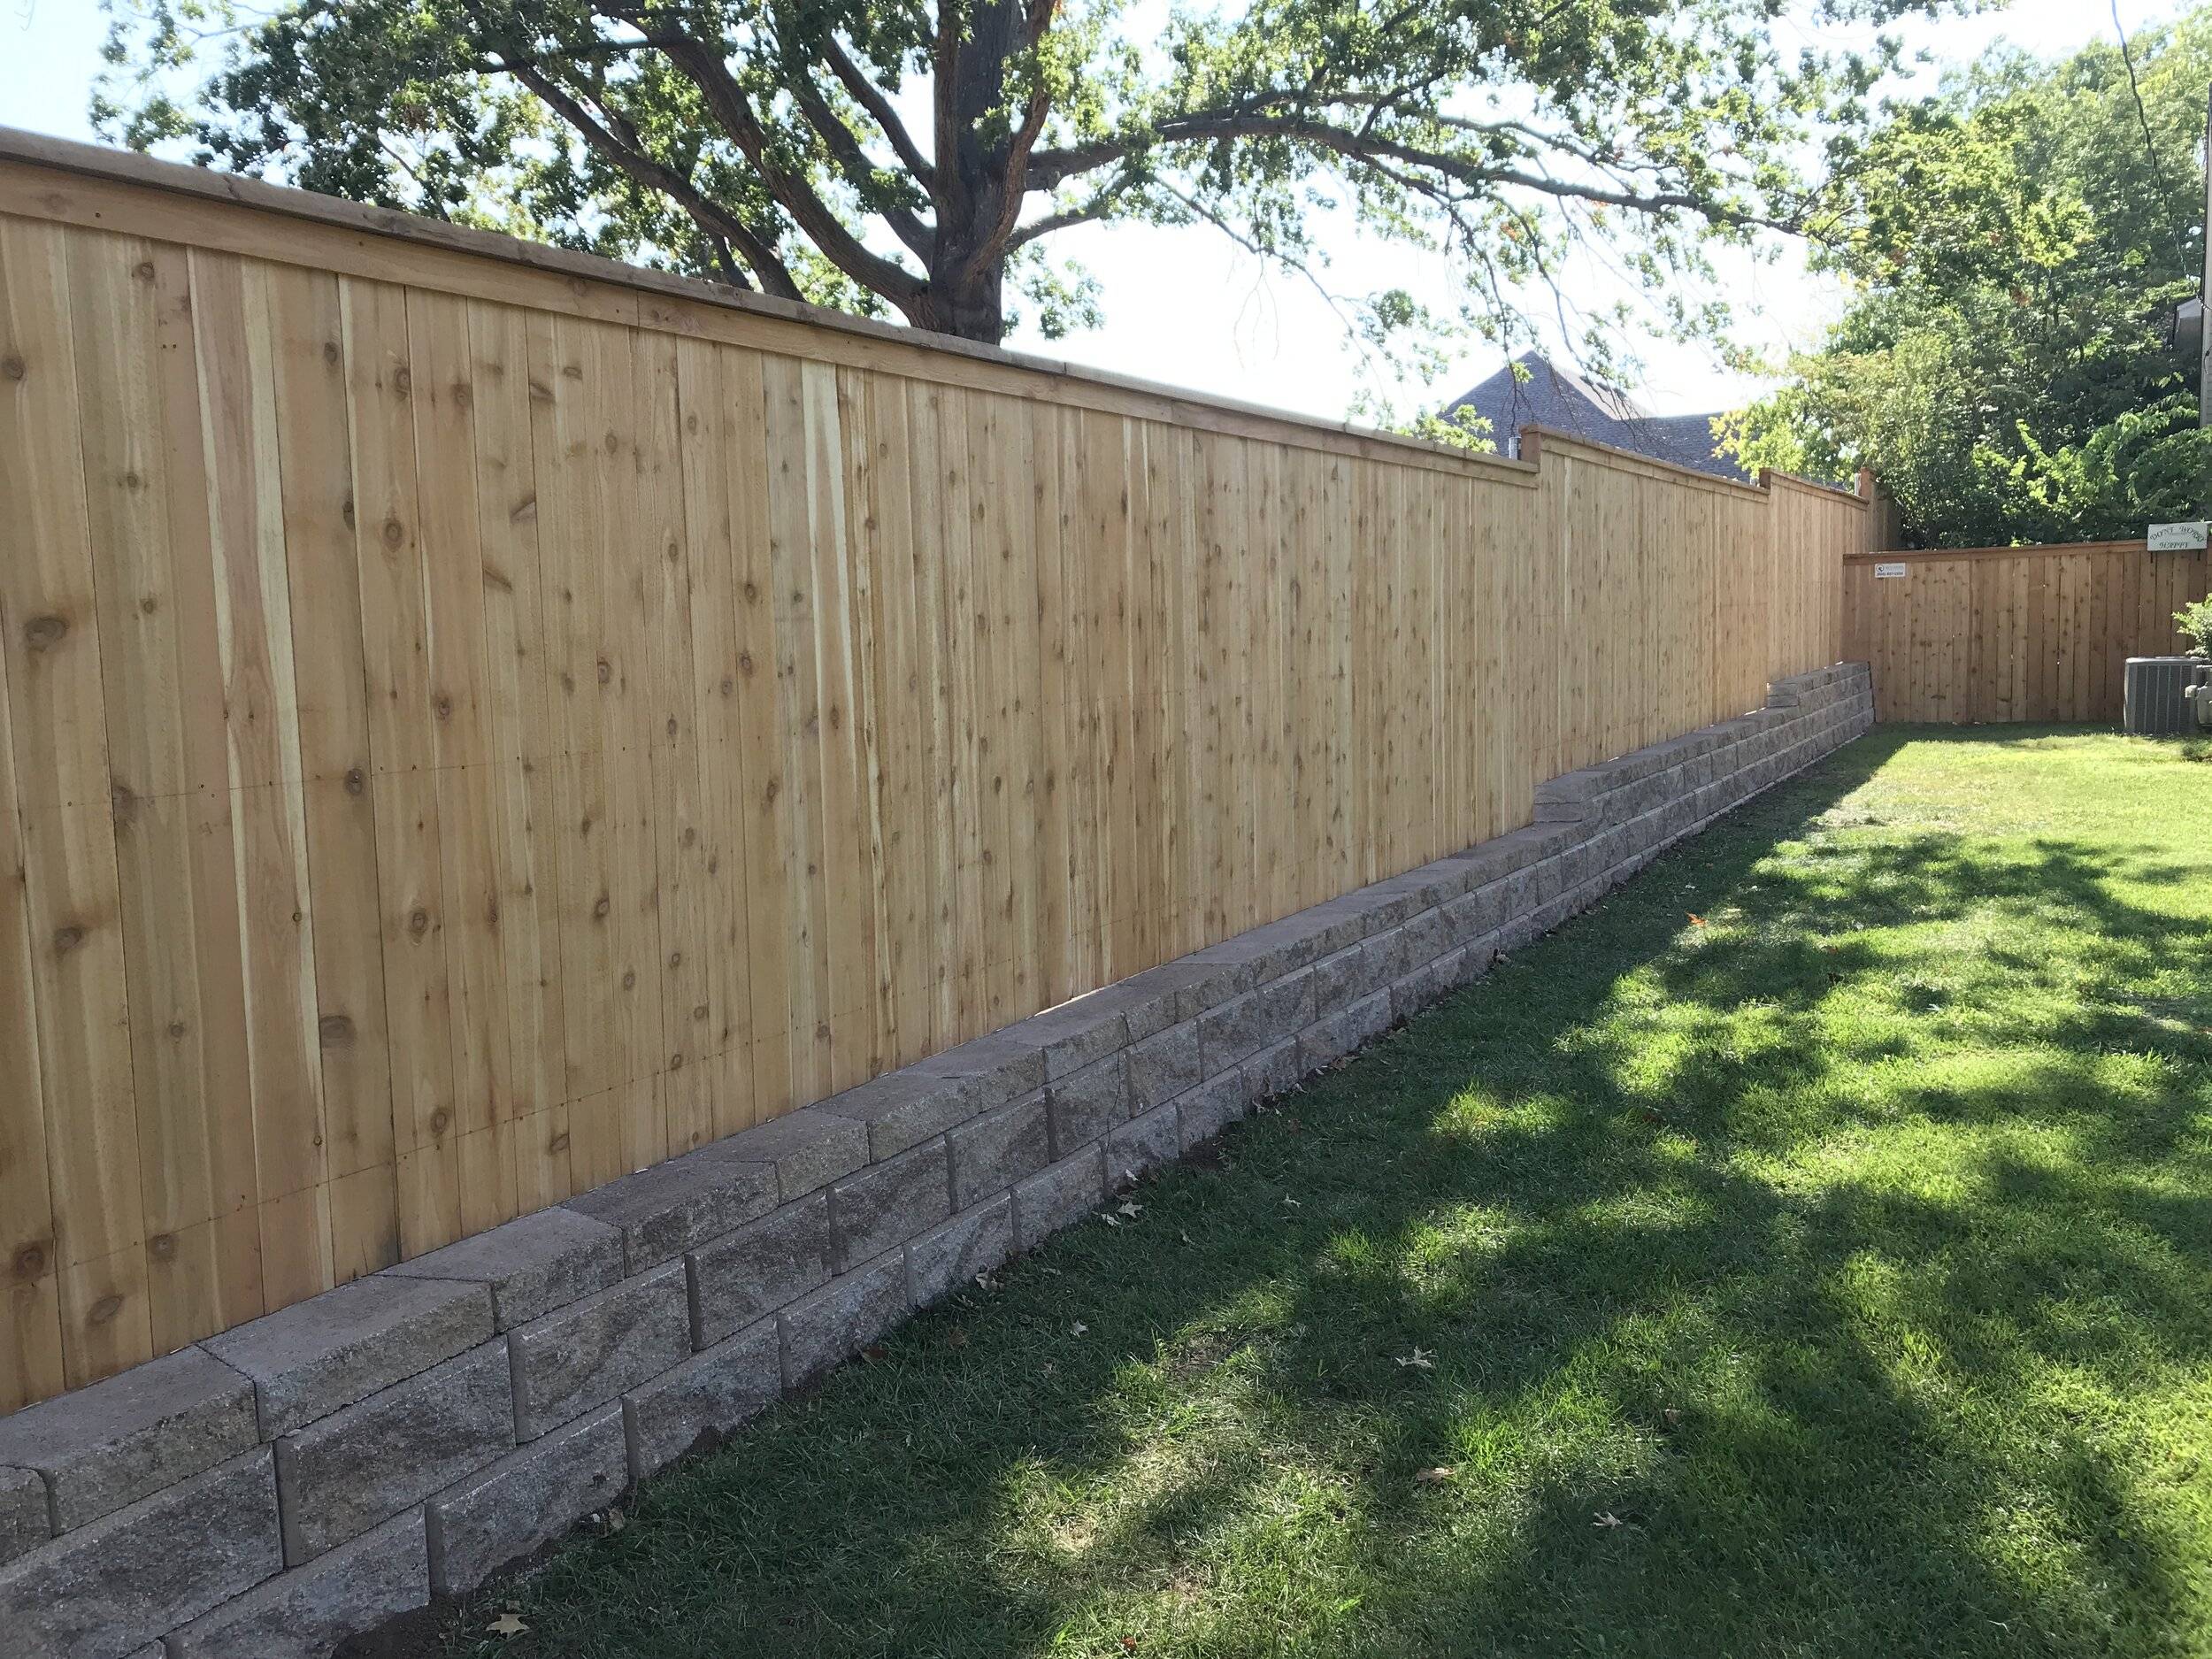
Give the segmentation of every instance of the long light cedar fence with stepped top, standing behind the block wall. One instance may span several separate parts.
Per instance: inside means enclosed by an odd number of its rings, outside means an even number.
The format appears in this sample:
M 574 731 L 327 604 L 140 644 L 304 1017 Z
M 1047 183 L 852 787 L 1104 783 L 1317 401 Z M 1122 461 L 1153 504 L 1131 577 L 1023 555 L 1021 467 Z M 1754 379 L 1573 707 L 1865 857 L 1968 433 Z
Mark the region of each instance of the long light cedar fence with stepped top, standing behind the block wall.
M 1865 507 L 0 139 L 0 1409 L 1531 818 Z

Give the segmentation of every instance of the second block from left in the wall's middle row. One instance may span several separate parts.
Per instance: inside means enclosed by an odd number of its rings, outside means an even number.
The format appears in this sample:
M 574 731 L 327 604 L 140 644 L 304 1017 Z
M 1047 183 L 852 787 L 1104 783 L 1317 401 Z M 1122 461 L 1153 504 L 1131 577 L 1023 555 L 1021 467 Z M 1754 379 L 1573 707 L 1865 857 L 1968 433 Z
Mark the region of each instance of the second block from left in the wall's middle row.
M 276 1442 L 285 1564 L 358 1537 L 513 1444 L 504 1340 L 294 1429 Z

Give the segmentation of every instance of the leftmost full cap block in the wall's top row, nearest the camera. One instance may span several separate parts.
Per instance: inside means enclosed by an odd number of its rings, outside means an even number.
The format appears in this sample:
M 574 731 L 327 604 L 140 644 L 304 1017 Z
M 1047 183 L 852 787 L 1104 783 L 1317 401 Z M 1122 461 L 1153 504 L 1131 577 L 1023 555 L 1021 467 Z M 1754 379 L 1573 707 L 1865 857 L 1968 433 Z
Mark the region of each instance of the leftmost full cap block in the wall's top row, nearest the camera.
M 66 1533 L 259 1442 L 254 1385 L 186 1347 L 0 1418 L 0 1469 L 44 1475 L 53 1528 Z M 7 1493 L 0 1475 L 0 1559 L 11 1553 Z M 46 1513 L 42 1493 L 40 1537 Z

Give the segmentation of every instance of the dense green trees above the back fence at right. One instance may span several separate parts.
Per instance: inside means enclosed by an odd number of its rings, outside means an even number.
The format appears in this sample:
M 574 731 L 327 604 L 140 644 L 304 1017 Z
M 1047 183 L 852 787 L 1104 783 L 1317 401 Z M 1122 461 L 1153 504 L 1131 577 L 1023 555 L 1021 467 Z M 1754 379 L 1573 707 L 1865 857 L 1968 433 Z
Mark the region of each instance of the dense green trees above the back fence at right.
M 2135 64 L 2130 82 L 2128 58 Z M 2011 49 L 1849 157 L 1854 299 L 1739 416 L 1747 465 L 1874 469 L 1927 546 L 2141 535 L 2212 504 L 2197 296 L 2212 7 L 2059 64 Z M 2137 102 L 2137 88 L 2141 102 Z

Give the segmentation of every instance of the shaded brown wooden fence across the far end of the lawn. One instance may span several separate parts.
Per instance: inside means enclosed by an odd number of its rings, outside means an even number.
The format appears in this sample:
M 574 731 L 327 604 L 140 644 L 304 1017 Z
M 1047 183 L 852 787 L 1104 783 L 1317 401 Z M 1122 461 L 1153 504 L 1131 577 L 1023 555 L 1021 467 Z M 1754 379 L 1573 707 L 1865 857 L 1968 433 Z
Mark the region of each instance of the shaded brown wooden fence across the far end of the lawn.
M 2121 666 L 2183 648 L 2208 571 L 2141 542 L 1854 553 L 1843 650 L 1874 666 L 1876 719 L 2117 723 Z

